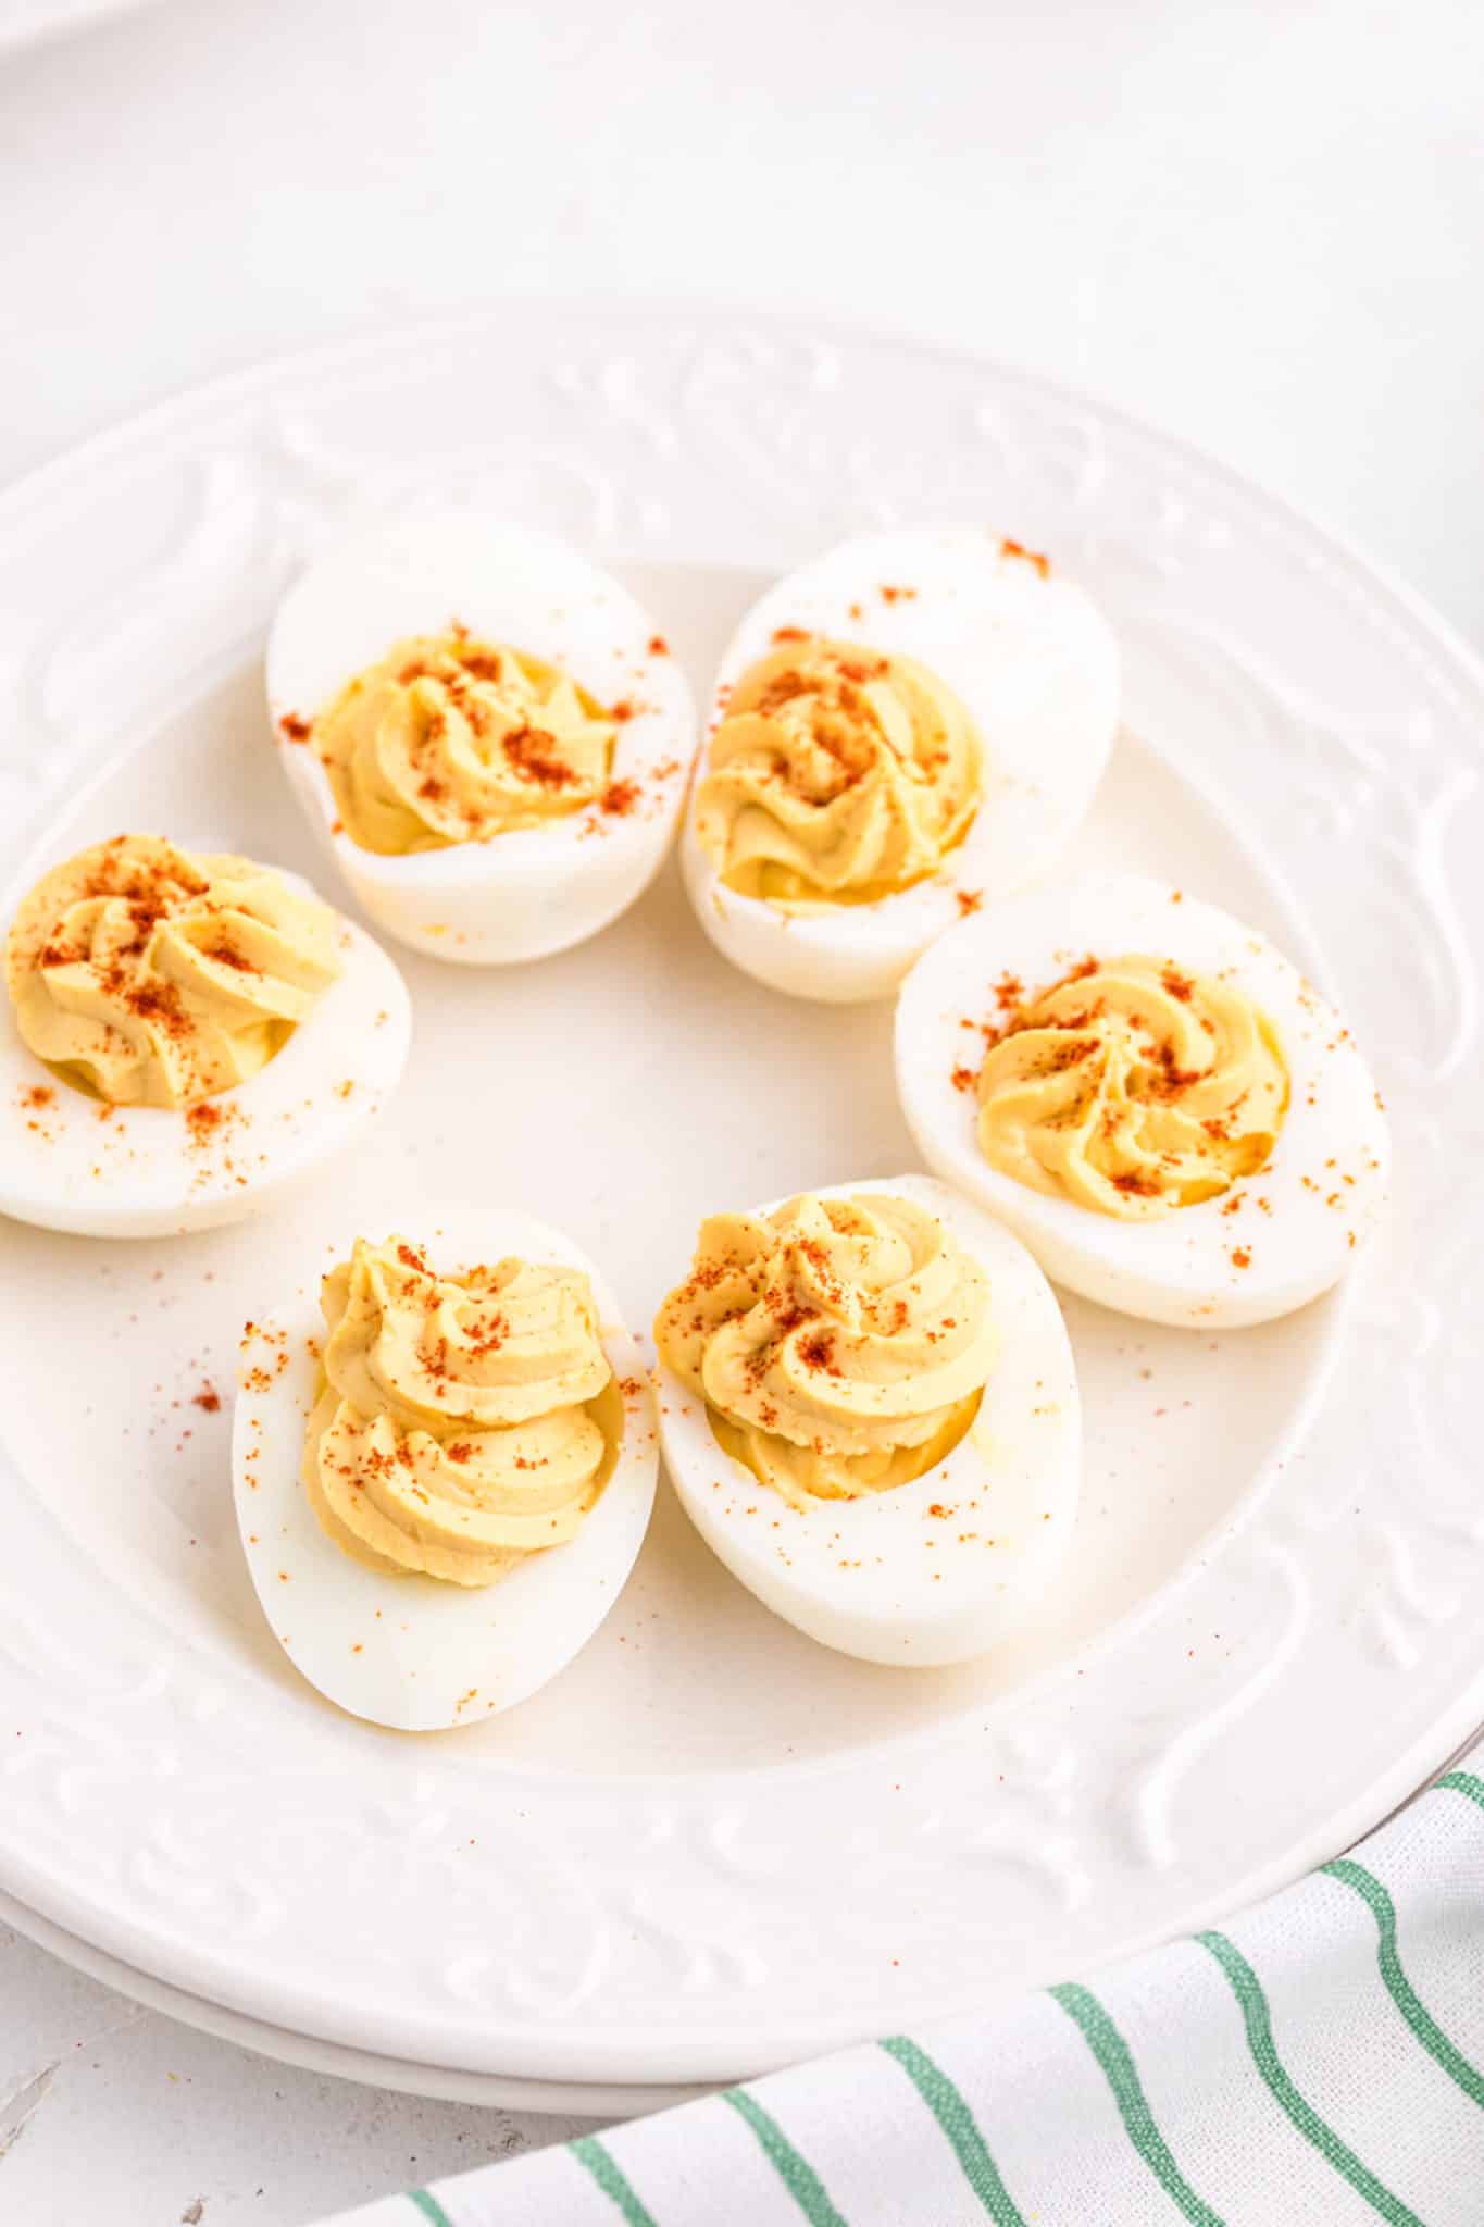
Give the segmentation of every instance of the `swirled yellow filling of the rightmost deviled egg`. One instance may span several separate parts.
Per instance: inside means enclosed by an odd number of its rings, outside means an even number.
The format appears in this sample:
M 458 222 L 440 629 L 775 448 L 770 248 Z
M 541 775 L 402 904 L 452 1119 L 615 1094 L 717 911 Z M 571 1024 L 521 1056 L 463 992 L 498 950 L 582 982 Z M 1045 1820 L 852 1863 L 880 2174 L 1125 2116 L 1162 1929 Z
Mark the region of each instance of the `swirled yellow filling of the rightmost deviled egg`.
M 1235 982 L 1148 955 L 1088 958 L 1012 1000 L 977 1096 L 992 1167 L 1099 1214 L 1152 1220 L 1264 1167 L 1288 1069 Z

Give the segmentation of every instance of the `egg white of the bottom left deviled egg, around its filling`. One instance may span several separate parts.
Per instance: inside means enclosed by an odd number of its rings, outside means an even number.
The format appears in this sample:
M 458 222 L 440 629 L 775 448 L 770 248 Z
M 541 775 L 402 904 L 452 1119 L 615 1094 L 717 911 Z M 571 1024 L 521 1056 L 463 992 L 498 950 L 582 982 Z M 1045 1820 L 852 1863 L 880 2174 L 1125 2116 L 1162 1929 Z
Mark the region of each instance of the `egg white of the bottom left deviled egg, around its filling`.
M 307 1285 L 245 1336 L 231 1481 L 247 1568 L 274 1637 L 294 1668 L 354 1717 L 432 1733 L 514 1708 L 587 1646 L 643 1546 L 659 1441 L 639 1345 L 592 1260 L 558 1229 L 465 1205 L 432 1218 L 414 1209 L 403 1225 L 427 1234 L 443 1269 L 512 1254 L 583 1269 L 623 1394 L 619 1459 L 574 1539 L 527 1557 L 494 1586 L 389 1577 L 325 1537 L 298 1477 L 325 1327 L 318 1287 Z

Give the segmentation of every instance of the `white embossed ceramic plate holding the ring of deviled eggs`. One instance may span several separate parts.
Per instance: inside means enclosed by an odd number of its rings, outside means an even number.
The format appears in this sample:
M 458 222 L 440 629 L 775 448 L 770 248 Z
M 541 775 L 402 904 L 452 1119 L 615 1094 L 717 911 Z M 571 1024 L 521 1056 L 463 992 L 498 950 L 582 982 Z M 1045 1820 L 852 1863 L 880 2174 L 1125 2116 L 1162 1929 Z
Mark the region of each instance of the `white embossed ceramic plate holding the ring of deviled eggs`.
M 850 528 L 981 514 L 1077 570 L 1144 737 L 1079 860 L 1248 913 L 1339 995 L 1393 1111 L 1391 1229 L 1348 1307 L 1217 1341 L 1068 1305 L 1084 1514 L 1001 1657 L 825 1655 L 661 1490 L 554 1686 L 383 1735 L 260 1623 L 227 1416 L 191 1405 L 243 1318 L 418 1162 L 563 1225 L 643 1323 L 701 1211 L 912 1158 L 890 1013 L 730 971 L 674 869 L 536 967 L 409 958 L 407 1085 L 287 1225 L 0 1232 L 27 1387 L 0 1425 L 0 1888 L 267 2047 L 596 2102 L 1092 1971 L 1333 1853 L 1484 1715 L 1480 675 L 1277 503 L 1084 403 L 794 325 L 547 307 L 518 352 L 481 321 L 207 390 L 4 497 L 0 811 L 311 871 L 267 610 L 349 517 L 449 501 L 616 563 L 701 684 L 761 577 Z M 527 1087 L 496 1091 L 512 1056 Z

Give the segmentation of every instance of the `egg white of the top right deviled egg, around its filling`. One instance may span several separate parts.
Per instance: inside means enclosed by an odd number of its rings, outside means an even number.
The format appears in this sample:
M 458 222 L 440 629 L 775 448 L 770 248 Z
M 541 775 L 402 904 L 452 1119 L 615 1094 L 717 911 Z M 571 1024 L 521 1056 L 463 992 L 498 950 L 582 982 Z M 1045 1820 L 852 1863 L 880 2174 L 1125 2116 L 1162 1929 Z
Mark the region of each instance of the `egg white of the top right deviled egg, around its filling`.
M 1117 730 L 1117 641 L 1081 588 L 979 526 L 861 534 L 752 606 L 721 661 L 708 733 L 748 666 L 790 630 L 937 673 L 979 728 L 983 802 L 932 880 L 874 904 L 788 913 L 736 895 L 696 837 L 694 808 L 685 882 L 705 933 L 745 973 L 797 998 L 886 998 L 966 906 L 1032 880 L 1077 831 Z

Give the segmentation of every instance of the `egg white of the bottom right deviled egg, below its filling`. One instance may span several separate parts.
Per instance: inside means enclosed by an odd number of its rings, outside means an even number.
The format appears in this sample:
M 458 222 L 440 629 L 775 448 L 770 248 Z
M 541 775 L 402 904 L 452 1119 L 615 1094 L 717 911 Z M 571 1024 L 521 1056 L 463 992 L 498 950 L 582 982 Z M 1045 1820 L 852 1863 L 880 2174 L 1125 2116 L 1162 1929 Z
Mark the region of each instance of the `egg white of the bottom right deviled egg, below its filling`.
M 968 1434 L 908 1485 L 801 1510 L 723 1454 L 705 1401 L 661 1367 L 665 1468 L 732 1577 L 810 1639 L 874 1664 L 966 1661 L 1032 1612 L 1070 1541 L 1081 1483 L 1072 1350 L 1026 1247 L 957 1191 L 897 1176 L 819 1196 L 850 1194 L 926 1207 L 988 1269 L 995 1363 Z

